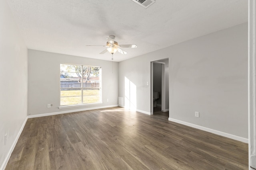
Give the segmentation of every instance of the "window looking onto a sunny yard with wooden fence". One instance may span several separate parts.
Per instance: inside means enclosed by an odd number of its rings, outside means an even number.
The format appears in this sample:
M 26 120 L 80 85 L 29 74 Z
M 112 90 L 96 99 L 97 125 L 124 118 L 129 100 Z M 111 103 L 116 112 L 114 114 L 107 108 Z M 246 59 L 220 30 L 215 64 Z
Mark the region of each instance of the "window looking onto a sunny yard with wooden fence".
M 101 67 L 60 64 L 60 106 L 101 102 Z

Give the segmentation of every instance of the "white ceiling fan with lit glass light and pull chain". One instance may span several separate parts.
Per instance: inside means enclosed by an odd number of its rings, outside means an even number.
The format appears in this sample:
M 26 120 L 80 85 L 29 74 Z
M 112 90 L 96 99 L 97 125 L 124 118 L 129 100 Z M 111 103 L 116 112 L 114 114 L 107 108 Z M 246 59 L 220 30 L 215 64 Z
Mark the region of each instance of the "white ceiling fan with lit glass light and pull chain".
M 112 59 L 113 59 L 113 54 L 116 53 L 116 51 L 118 51 L 121 54 L 127 54 L 127 52 L 120 49 L 120 47 L 122 47 L 122 48 L 136 48 L 137 47 L 137 45 L 135 45 L 135 44 L 118 45 L 118 42 L 114 41 L 115 37 L 116 36 L 114 36 L 114 35 L 109 35 L 109 37 L 107 37 L 107 45 L 86 45 L 86 46 L 108 47 L 107 49 L 102 51 L 100 54 L 104 54 L 108 51 L 112 54 Z

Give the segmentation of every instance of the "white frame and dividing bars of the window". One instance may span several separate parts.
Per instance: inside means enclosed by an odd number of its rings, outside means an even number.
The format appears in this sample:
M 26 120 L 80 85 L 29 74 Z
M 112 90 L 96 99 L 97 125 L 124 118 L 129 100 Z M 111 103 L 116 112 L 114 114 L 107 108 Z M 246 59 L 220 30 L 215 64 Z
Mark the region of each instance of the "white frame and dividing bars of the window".
M 59 92 L 60 92 L 60 96 L 59 96 L 59 100 L 60 100 L 60 103 L 59 103 L 59 109 L 63 109 L 63 108 L 69 108 L 69 107 L 81 107 L 81 106 L 90 106 L 90 105 L 98 105 L 98 104 L 102 104 L 102 67 L 101 66 L 89 66 L 89 65 L 84 65 L 84 64 L 67 64 L 67 63 L 60 63 L 60 69 L 61 69 L 61 64 L 66 64 L 66 65 L 71 65 L 71 66 L 81 66 L 82 69 L 81 69 L 81 73 L 82 73 L 82 70 L 84 67 L 96 67 L 96 68 L 99 68 L 99 102 L 94 102 L 94 103 L 83 103 L 84 102 L 84 90 L 86 90 L 86 87 L 84 87 L 84 84 L 83 84 L 83 78 L 82 81 L 81 81 L 81 86 L 80 87 L 77 87 L 81 90 L 81 103 L 80 104 L 70 104 L 70 105 L 62 105 L 61 106 L 61 98 L 63 96 L 61 96 L 61 89 L 68 89 L 68 88 L 62 88 L 61 85 L 59 84 Z M 59 69 L 59 73 L 61 75 L 61 70 Z M 70 72 L 70 73 L 73 73 L 73 72 Z M 82 74 L 81 74 L 82 75 Z M 61 76 L 60 76 L 60 80 L 59 80 L 59 83 L 61 83 Z M 69 96 L 69 97 L 72 97 L 72 96 Z M 74 96 L 75 97 L 75 96 Z

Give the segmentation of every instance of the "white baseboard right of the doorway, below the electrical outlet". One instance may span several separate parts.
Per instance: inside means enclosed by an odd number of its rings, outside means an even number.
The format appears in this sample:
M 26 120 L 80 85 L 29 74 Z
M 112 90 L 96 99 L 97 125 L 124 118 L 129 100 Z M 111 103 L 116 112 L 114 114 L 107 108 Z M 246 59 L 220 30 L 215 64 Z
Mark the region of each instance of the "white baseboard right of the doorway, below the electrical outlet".
M 180 120 L 177 120 L 177 119 L 172 119 L 170 117 L 168 118 L 168 120 L 176 122 L 176 123 L 180 123 L 182 125 L 194 127 L 196 129 L 200 129 L 200 130 L 203 130 L 203 131 L 207 131 L 207 132 L 210 132 L 210 133 L 214 133 L 216 135 L 228 137 L 230 139 L 234 139 L 234 140 L 241 141 L 241 142 L 244 142 L 244 143 L 248 143 L 249 142 L 248 139 L 246 139 L 246 138 L 239 137 L 239 136 L 232 135 L 232 134 L 225 133 L 225 132 L 221 132 L 221 131 L 217 131 L 217 130 L 214 130 L 214 129 L 210 129 L 208 127 L 203 127 L 203 126 L 195 125 L 195 124 L 188 123 L 188 122 L 185 122 L 185 121 L 180 121 Z

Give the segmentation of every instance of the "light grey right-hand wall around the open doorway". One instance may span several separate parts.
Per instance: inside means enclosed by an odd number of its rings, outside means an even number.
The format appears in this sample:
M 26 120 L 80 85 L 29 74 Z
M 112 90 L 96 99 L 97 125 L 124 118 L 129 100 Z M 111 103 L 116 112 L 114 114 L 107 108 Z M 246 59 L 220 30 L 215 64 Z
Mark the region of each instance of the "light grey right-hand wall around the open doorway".
M 150 62 L 169 58 L 169 117 L 248 139 L 247 27 L 243 23 L 120 62 L 119 96 L 125 97 L 127 77 L 137 88 L 136 109 L 150 113 Z

